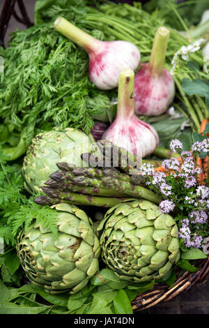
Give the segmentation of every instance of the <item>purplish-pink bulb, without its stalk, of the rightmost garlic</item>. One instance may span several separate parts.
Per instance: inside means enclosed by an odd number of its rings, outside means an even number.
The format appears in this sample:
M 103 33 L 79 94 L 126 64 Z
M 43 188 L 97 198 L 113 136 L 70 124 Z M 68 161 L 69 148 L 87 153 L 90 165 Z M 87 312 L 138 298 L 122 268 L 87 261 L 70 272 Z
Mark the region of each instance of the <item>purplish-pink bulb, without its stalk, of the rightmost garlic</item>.
M 134 111 L 136 114 L 157 116 L 164 113 L 175 96 L 175 83 L 166 68 L 153 75 L 150 65 L 142 64 L 135 76 Z

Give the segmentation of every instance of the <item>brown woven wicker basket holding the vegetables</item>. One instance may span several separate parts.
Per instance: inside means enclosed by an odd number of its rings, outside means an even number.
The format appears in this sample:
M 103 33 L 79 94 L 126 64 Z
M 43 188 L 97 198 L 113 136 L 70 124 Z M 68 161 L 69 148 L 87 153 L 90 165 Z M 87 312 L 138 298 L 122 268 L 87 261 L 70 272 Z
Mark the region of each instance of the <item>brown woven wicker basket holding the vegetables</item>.
M 15 12 L 16 2 L 20 8 L 22 17 L 19 17 Z M 8 22 L 12 15 L 18 22 L 21 22 L 26 27 L 31 27 L 33 25 L 33 23 L 29 19 L 29 16 L 26 13 L 26 8 L 24 6 L 23 0 L 4 0 L 3 10 L 0 16 L 0 45 L 3 47 L 5 47 L 4 37 L 6 34 L 6 29 L 8 27 Z M 209 277 L 209 256 L 206 260 L 196 260 L 194 265 L 195 267 L 199 268 L 199 271 L 196 271 L 194 273 L 185 271 L 177 278 L 173 288 L 169 288 L 169 286 L 165 283 L 155 283 L 154 288 L 152 290 L 140 293 L 134 299 L 134 301 L 132 301 L 133 310 L 141 311 L 145 310 L 146 308 L 155 306 L 156 304 L 159 304 L 162 301 L 170 301 L 171 299 L 179 295 L 180 292 L 184 292 L 192 287 L 206 283 Z M 180 273 L 180 270 L 179 272 L 176 272 L 177 276 L 178 273 Z

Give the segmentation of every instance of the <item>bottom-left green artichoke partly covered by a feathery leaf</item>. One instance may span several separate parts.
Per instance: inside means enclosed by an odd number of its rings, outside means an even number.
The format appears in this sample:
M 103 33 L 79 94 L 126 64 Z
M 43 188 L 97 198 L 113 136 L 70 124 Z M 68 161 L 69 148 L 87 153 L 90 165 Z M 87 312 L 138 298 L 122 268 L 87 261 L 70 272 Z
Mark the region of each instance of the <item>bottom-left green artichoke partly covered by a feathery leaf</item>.
M 20 232 L 17 254 L 27 278 L 47 292 L 82 290 L 99 269 L 100 243 L 86 213 L 69 204 L 56 204 L 58 236 L 32 223 Z

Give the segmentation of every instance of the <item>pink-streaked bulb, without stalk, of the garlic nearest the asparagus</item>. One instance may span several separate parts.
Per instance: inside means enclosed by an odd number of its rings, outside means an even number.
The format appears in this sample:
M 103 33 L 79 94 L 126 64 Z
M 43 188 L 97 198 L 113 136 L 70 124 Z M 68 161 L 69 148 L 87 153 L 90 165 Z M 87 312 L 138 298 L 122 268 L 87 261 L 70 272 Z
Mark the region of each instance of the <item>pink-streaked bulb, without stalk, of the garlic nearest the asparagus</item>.
M 144 158 L 153 153 L 159 144 L 159 137 L 155 129 L 133 115 L 127 121 L 118 121 L 104 132 L 102 140 L 114 142 L 138 158 Z

